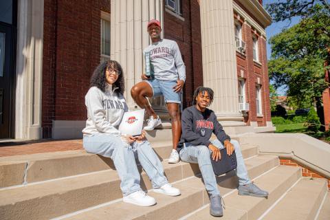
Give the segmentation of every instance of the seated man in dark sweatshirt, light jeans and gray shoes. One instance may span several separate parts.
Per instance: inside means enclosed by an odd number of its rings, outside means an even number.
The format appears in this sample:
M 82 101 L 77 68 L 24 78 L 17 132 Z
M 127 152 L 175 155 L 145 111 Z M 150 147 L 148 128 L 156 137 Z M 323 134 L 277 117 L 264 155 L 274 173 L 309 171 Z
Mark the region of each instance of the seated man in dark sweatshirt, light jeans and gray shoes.
M 268 192 L 261 190 L 252 184 L 245 168 L 243 155 L 239 142 L 230 140 L 217 121 L 214 111 L 208 109 L 213 100 L 213 91 L 208 87 L 198 87 L 195 90 L 192 107 L 182 112 L 182 135 L 178 151 L 183 162 L 199 165 L 203 181 L 210 196 L 210 214 L 222 216 L 221 195 L 217 188 L 217 179 L 214 176 L 211 164 L 212 159 L 221 159 L 220 149 L 226 148 L 228 155 L 235 151 L 237 168 L 236 175 L 239 177 L 239 195 L 254 197 L 267 197 Z M 210 140 L 214 133 L 215 140 Z

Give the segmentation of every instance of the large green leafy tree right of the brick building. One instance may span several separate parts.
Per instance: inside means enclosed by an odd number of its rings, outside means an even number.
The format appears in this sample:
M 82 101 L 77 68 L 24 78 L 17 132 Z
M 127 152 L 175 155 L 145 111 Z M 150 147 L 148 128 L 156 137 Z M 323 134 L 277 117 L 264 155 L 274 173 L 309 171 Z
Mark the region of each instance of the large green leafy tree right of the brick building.
M 327 1 L 278 1 L 267 5 L 274 21 L 300 16 L 301 21 L 270 39 L 270 79 L 274 87 L 286 85 L 294 100 L 321 107 L 325 68 L 330 63 L 330 8 Z M 300 105 L 298 103 L 298 105 Z

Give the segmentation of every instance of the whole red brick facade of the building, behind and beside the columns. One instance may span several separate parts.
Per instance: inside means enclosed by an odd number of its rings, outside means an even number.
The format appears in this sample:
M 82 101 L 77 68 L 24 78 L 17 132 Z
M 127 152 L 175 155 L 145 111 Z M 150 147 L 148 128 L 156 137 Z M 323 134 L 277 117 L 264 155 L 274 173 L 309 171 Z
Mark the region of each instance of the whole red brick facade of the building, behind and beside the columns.
M 164 1 L 163 1 L 164 2 Z M 43 137 L 51 137 L 52 120 L 85 120 L 84 96 L 89 78 L 100 62 L 100 11 L 111 12 L 110 1 L 45 0 L 43 39 Z M 199 2 L 182 1 L 181 18 L 164 6 L 164 37 L 177 41 L 186 65 L 184 107 L 203 85 Z M 234 15 L 233 15 L 234 16 Z M 257 21 L 258 22 L 258 21 Z M 246 122 L 265 126 L 270 121 L 265 39 L 259 37 L 259 63 L 252 57 L 252 28 L 243 25 L 246 53 L 237 53 L 237 70 L 243 69 L 250 111 Z M 257 33 L 258 34 L 258 33 Z M 256 115 L 256 82 L 262 88 L 263 117 Z

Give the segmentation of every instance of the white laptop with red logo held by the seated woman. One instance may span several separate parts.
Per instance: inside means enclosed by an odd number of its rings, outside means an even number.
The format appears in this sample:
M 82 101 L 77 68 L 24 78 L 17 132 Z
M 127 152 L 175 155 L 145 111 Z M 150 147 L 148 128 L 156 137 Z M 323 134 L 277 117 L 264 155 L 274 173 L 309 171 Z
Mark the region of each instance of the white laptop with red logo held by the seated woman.
M 142 134 L 144 120 L 144 109 L 135 111 L 126 111 L 122 116 L 118 130 L 127 135 L 140 136 Z

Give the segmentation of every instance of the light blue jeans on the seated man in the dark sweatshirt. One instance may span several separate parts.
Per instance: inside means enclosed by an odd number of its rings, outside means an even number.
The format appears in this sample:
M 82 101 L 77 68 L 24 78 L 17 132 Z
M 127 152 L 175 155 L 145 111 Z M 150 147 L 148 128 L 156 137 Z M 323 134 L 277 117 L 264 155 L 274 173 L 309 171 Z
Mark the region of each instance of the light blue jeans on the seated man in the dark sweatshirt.
M 219 149 L 224 148 L 223 144 L 217 139 L 212 140 L 211 142 Z M 239 185 L 250 184 L 251 180 L 248 176 L 248 171 L 246 170 L 244 164 L 241 148 L 239 147 L 239 142 L 237 142 L 236 140 L 231 140 L 230 142 L 234 145 L 234 150 L 236 154 L 237 168 L 235 171 L 237 177 L 239 177 Z M 210 151 L 207 146 L 193 146 L 190 143 L 185 143 L 184 148 L 182 148 L 180 151 L 180 158 L 183 162 L 198 164 L 208 194 L 220 195 L 220 192 L 217 188 L 217 179 L 215 178 L 211 164 L 211 152 L 212 151 Z

